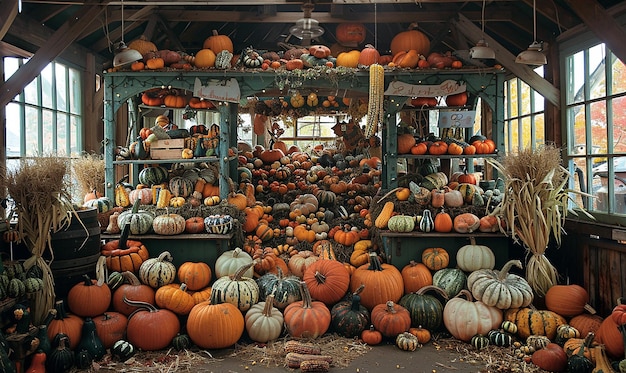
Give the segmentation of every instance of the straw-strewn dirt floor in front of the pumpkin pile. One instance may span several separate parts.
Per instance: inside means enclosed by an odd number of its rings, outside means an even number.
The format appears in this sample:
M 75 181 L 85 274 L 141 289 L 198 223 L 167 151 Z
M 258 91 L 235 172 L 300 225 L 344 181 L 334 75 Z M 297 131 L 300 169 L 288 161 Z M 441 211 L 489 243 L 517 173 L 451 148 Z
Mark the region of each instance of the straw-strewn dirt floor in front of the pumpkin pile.
M 224 350 L 139 353 L 120 363 L 107 355 L 93 369 L 73 372 L 299 372 L 284 365 L 284 341 L 266 346 L 238 345 Z M 367 346 L 356 340 L 327 336 L 316 343 L 322 353 L 334 357 L 330 372 L 540 372 L 532 364 L 512 356 L 512 348 L 487 347 L 479 351 L 454 339 L 435 339 L 414 352 L 398 349 L 391 341 Z

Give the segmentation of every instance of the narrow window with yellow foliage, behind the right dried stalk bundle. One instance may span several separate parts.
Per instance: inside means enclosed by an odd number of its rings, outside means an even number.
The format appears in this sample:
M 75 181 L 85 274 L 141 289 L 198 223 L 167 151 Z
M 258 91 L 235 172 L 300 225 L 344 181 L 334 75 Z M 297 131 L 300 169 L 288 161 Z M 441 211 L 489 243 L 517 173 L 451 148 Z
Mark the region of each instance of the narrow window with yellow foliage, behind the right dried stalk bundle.
M 535 70 L 543 76 L 543 67 Z M 544 98 L 519 78 L 504 85 L 504 145 L 506 153 L 545 143 Z

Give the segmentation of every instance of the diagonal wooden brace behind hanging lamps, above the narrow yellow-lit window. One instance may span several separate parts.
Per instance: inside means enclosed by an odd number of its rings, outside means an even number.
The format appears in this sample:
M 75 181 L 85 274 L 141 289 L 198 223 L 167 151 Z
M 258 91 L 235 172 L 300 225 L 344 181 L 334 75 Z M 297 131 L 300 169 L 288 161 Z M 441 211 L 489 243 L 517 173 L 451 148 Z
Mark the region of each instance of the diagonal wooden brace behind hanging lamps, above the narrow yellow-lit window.
M 476 43 L 483 37 L 482 30 L 477 27 L 472 21 L 467 19 L 462 14 L 458 14 L 458 18 L 452 20 L 457 28 L 467 36 L 472 42 Z M 548 102 L 557 108 L 560 107 L 560 91 L 554 87 L 550 82 L 539 76 L 530 67 L 515 63 L 515 55 L 509 52 L 506 48 L 500 45 L 497 41 L 491 38 L 489 35 L 484 35 L 485 41 L 496 52 L 496 60 L 504 66 L 508 71 L 513 73 L 518 78 L 526 82 L 532 89 L 542 95 Z

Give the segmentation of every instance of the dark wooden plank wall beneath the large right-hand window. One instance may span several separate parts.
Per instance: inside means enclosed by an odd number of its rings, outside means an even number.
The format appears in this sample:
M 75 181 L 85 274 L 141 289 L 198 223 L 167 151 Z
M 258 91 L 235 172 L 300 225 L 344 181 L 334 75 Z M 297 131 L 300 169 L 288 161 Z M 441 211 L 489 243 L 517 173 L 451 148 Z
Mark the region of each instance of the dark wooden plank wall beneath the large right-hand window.
M 608 316 L 617 298 L 626 296 L 626 244 L 612 238 L 616 227 L 568 221 L 564 256 L 557 266 L 569 283 L 583 286 L 600 316 Z

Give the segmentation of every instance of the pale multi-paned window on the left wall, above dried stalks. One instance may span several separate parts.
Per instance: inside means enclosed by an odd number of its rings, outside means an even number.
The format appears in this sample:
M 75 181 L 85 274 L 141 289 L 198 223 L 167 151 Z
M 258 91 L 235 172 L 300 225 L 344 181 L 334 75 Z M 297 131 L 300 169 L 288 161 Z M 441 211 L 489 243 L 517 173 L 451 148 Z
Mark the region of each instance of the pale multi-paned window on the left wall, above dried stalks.
M 3 59 L 6 79 L 27 62 Z M 7 166 L 22 157 L 82 151 L 82 90 L 80 72 L 52 62 L 6 107 Z

